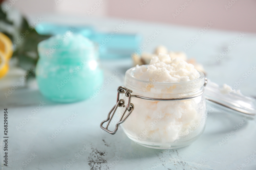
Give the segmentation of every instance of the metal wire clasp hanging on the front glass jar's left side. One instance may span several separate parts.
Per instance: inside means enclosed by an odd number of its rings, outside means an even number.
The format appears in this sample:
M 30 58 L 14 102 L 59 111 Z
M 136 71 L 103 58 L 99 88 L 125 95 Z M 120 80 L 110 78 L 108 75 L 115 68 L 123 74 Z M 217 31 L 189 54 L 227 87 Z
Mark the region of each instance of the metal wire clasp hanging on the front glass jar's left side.
M 116 133 L 116 131 L 118 130 L 118 127 L 121 123 L 123 123 L 124 121 L 126 121 L 126 119 L 130 116 L 130 114 L 132 113 L 133 109 L 134 109 L 134 105 L 131 103 L 131 98 L 132 98 L 132 90 L 127 89 L 123 86 L 119 86 L 117 89 L 118 93 L 117 93 L 117 100 L 116 100 L 116 104 L 114 105 L 114 107 L 110 110 L 109 114 L 108 114 L 108 118 L 104 121 L 101 122 L 100 124 L 100 128 L 102 128 L 103 130 L 105 130 L 106 132 L 114 135 Z M 125 106 L 124 104 L 124 100 L 123 99 L 119 99 L 120 97 L 120 93 L 124 93 L 126 97 L 128 97 L 128 104 Z M 123 114 L 121 115 L 119 122 L 115 125 L 115 129 L 113 131 L 110 131 L 108 129 L 108 126 L 117 110 L 118 107 L 125 107 Z M 129 113 L 124 117 L 125 113 L 129 111 Z M 103 124 L 105 122 L 108 122 L 106 127 L 103 127 Z

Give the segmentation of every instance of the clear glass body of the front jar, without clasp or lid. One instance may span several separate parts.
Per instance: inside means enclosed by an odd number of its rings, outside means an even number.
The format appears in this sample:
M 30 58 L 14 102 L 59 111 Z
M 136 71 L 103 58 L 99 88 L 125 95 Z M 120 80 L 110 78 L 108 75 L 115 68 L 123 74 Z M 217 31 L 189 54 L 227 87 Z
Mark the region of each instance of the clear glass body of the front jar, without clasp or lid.
M 159 83 L 133 77 L 134 68 L 127 70 L 125 87 L 133 95 L 159 99 L 132 98 L 134 110 L 122 124 L 125 134 L 136 143 L 158 149 L 184 147 L 195 141 L 204 131 L 206 122 L 205 77 L 182 83 Z M 192 98 L 188 98 L 192 97 Z M 186 99 L 188 98 L 188 99 Z M 124 96 L 127 102 L 126 96 Z

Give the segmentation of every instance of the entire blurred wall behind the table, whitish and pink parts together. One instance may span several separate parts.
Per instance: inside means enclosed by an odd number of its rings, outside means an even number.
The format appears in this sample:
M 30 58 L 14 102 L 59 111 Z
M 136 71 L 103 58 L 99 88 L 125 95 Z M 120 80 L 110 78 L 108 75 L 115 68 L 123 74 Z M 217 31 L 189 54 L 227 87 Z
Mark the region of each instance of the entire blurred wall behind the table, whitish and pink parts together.
M 26 15 L 36 13 L 60 13 L 87 16 L 87 11 L 100 0 L 20 0 L 14 6 Z M 256 32 L 255 0 L 102 0 L 103 3 L 90 17 L 110 16 L 172 23 L 203 28 L 207 22 L 211 28 L 231 31 Z M 226 10 L 225 5 L 234 3 Z M 9 1 L 6 1 L 9 2 Z M 141 7 L 140 3 L 147 2 Z M 187 3 L 178 16 L 173 17 L 180 5 Z M 183 6 L 184 7 L 184 6 Z

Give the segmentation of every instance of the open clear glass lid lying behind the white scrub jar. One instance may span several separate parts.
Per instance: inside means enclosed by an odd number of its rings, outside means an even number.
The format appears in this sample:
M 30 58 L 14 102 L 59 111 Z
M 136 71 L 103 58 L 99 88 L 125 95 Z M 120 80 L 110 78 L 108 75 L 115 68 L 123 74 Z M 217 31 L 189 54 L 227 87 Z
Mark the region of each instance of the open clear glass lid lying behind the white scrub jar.
M 231 111 L 250 119 L 255 118 L 256 100 L 242 95 L 240 90 L 236 91 L 226 84 L 219 86 L 208 80 L 205 86 L 205 98 L 221 110 Z

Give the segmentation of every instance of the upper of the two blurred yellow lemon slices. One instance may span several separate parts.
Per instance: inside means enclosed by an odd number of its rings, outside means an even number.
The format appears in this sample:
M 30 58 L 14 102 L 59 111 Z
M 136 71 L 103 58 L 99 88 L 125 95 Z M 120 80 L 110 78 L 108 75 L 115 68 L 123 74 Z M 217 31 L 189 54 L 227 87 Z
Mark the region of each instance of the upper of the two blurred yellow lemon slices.
M 0 32 L 0 52 L 6 59 L 10 59 L 13 55 L 13 43 L 8 36 Z

